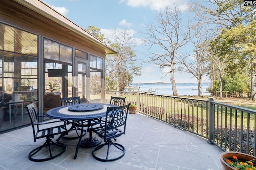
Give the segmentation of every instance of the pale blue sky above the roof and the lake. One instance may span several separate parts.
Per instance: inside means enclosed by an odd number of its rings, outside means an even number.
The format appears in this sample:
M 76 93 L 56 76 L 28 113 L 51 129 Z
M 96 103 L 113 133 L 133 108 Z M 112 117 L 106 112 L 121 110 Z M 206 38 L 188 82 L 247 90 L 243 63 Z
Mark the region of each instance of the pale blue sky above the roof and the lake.
M 186 9 L 188 0 L 43 0 L 55 10 L 82 28 L 93 25 L 111 40 L 114 29 L 127 29 L 134 36 L 134 49 L 138 59 L 144 59 L 141 31 L 156 18 L 158 12 L 174 3 Z M 164 72 L 164 71 L 163 71 Z M 132 83 L 168 82 L 170 75 L 154 64 L 143 64 L 140 76 Z M 192 74 L 176 72 L 176 83 L 196 83 Z M 203 80 L 204 81 L 204 80 Z

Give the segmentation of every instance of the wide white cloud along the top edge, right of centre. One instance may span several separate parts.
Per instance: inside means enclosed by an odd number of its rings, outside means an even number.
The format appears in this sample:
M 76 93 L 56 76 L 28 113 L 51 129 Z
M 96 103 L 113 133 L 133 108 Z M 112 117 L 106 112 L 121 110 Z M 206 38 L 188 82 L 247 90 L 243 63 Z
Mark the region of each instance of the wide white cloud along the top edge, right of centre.
M 126 2 L 126 5 L 136 7 L 149 7 L 151 10 L 161 10 L 167 6 L 177 4 L 182 10 L 186 9 L 187 0 L 120 0 L 119 3 Z

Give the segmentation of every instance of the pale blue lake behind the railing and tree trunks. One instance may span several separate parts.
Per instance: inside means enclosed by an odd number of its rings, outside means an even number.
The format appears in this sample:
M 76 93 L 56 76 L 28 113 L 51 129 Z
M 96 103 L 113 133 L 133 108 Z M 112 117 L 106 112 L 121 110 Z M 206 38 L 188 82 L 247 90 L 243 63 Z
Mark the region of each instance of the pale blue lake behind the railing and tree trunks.
M 210 83 L 202 83 L 202 95 L 211 95 L 206 91 L 210 85 Z M 138 84 L 131 86 L 138 86 Z M 178 95 L 198 95 L 197 83 L 177 83 L 176 88 Z M 173 95 L 172 84 L 140 84 L 140 91 L 146 92 L 148 90 L 151 90 L 152 94 Z

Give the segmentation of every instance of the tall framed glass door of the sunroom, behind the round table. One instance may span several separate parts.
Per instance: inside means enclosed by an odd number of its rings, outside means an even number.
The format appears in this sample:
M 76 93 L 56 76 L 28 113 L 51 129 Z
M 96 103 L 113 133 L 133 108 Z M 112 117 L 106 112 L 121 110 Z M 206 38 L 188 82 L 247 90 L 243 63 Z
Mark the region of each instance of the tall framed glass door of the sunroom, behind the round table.
M 89 99 L 89 87 L 87 86 L 89 81 L 88 75 L 88 61 L 84 59 L 75 59 L 75 86 L 74 96 L 80 96 L 80 102 L 88 102 Z

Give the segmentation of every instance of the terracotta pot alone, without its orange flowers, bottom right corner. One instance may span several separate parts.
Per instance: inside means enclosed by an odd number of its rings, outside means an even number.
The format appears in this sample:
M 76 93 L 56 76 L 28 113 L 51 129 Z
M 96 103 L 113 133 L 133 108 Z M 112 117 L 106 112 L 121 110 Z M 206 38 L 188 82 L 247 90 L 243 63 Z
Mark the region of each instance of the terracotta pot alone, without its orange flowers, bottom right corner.
M 232 158 L 232 156 L 236 156 L 238 159 L 245 160 L 245 161 L 256 159 L 255 156 L 241 153 L 241 152 L 223 152 L 222 154 L 220 154 L 220 162 L 222 164 L 222 170 L 234 170 L 231 166 L 229 166 L 224 161 L 225 158 Z

